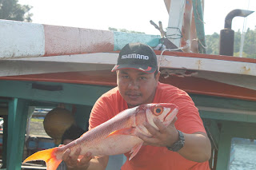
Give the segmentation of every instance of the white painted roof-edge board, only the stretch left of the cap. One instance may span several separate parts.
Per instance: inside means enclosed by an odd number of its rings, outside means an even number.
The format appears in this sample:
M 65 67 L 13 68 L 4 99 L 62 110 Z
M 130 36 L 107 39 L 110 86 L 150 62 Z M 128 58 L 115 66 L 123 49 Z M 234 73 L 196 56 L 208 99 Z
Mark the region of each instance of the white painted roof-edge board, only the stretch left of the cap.
M 0 77 L 112 69 L 117 56 L 118 53 L 114 57 L 108 57 L 108 53 L 90 53 L 4 60 L 0 61 Z

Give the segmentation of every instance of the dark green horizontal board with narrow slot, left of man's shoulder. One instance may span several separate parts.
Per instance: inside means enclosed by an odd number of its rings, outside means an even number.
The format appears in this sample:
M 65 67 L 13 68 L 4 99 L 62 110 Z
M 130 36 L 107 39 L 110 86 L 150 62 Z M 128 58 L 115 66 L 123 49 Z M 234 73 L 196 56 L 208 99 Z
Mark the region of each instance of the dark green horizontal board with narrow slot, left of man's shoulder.
M 113 87 L 100 85 L 74 85 L 65 83 L 44 83 L 44 85 L 62 85 L 62 91 L 32 89 L 30 81 L 0 81 L 0 97 L 17 97 L 36 101 L 52 101 L 78 105 L 94 105 L 98 97 Z

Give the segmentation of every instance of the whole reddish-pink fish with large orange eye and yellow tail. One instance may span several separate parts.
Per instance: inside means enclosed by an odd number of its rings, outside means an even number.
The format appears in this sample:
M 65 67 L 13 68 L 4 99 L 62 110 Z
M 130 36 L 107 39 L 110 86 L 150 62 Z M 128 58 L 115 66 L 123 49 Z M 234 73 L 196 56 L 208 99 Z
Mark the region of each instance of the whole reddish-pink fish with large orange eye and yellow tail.
M 102 125 L 85 132 L 70 144 L 36 152 L 26 158 L 23 163 L 31 160 L 44 160 L 47 170 L 55 170 L 62 162 L 63 152 L 67 148 L 70 148 L 71 155 L 77 148 L 82 148 L 81 155 L 91 152 L 92 156 L 97 157 L 130 152 L 129 160 L 131 160 L 143 144 L 143 140 L 136 134 L 142 133 L 151 136 L 143 123 L 148 122 L 158 129 L 154 125 L 154 117 L 158 117 L 158 120 L 168 126 L 177 113 L 178 107 L 167 103 L 139 105 L 132 109 L 126 109 Z

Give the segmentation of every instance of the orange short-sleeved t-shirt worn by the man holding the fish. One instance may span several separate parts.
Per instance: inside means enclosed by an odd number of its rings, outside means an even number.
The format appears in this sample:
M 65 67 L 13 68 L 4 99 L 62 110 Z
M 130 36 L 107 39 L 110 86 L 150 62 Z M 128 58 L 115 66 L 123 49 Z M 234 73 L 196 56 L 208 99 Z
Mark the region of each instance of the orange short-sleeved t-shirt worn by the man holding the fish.
M 153 103 L 173 103 L 178 106 L 178 120 L 174 124 L 178 130 L 185 133 L 206 132 L 194 102 L 181 89 L 158 82 Z M 111 89 L 96 101 L 90 113 L 89 128 L 101 125 L 125 109 L 128 109 L 128 105 L 118 88 Z M 130 154 L 125 155 L 129 159 Z M 171 152 L 166 147 L 142 146 L 132 160 L 128 159 L 122 170 L 210 170 L 208 161 L 198 163 L 186 160 L 178 152 Z

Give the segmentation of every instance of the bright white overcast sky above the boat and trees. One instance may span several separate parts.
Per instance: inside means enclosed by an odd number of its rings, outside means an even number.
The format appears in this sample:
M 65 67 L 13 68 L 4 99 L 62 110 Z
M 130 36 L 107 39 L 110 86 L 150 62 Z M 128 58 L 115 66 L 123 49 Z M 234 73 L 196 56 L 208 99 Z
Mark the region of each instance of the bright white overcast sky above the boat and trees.
M 168 27 L 169 14 L 164 0 L 19 0 L 22 5 L 30 5 L 34 23 L 54 26 L 72 26 L 95 30 L 134 30 L 146 34 L 160 34 L 150 20 L 162 22 Z M 226 15 L 235 9 L 256 10 L 256 0 L 205 0 L 205 34 L 218 33 L 224 28 Z M 232 30 L 254 30 L 256 11 L 246 21 L 236 17 Z

